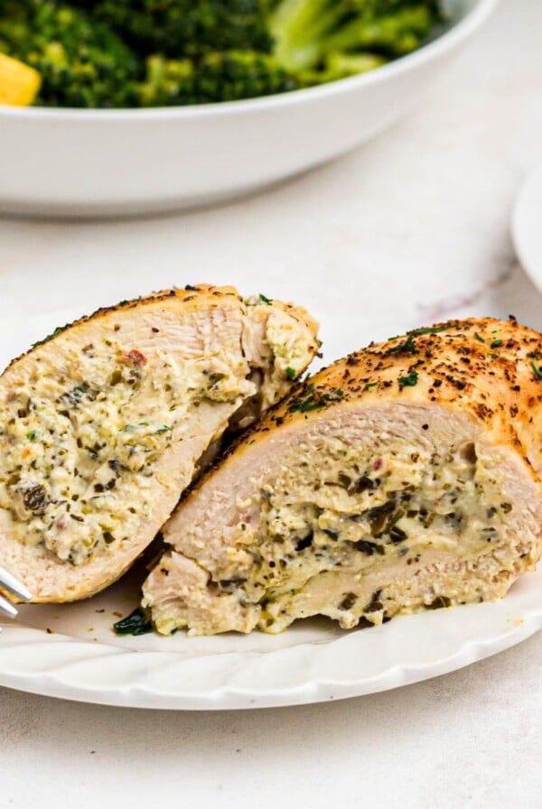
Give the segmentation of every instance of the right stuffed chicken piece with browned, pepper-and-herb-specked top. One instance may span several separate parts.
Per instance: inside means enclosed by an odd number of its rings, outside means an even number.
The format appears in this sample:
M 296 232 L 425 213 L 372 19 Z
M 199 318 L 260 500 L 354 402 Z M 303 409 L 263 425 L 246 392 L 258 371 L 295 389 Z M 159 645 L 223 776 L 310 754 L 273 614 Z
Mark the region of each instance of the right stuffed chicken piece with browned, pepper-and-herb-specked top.
M 155 627 L 353 628 L 504 596 L 542 548 L 541 359 L 514 320 L 451 321 L 297 386 L 165 526 Z

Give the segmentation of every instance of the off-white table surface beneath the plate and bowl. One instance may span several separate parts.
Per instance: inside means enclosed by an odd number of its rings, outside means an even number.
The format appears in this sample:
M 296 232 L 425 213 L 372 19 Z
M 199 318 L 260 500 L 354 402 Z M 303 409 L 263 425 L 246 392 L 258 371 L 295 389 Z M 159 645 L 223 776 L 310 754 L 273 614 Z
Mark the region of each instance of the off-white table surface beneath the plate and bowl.
M 448 316 L 542 327 L 509 215 L 542 160 L 542 4 L 500 11 L 374 144 L 228 207 L 131 222 L 0 220 L 2 354 L 102 303 L 234 283 L 318 311 L 325 358 Z M 316 300 L 314 296 L 314 300 Z M 314 307 L 313 307 L 314 308 Z M 389 693 L 303 708 L 163 713 L 0 689 L 0 806 L 542 806 L 542 637 Z

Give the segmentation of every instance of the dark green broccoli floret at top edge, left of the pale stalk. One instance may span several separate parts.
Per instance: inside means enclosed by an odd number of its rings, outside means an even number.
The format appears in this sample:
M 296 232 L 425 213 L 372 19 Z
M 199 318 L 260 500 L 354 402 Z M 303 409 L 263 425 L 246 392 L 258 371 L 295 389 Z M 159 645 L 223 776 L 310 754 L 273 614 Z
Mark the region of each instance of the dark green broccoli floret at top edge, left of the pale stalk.
M 260 0 L 79 0 L 146 55 L 271 50 Z

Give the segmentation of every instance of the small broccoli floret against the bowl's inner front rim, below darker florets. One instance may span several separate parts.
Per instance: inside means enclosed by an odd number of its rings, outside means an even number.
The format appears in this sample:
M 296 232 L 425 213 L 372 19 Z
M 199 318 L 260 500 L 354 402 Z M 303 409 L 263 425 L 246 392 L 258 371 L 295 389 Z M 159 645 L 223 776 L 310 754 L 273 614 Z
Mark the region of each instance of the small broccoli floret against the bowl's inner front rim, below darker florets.
M 271 96 L 299 87 L 299 79 L 266 53 L 208 53 L 200 60 L 152 56 L 138 100 L 142 107 L 207 104 Z

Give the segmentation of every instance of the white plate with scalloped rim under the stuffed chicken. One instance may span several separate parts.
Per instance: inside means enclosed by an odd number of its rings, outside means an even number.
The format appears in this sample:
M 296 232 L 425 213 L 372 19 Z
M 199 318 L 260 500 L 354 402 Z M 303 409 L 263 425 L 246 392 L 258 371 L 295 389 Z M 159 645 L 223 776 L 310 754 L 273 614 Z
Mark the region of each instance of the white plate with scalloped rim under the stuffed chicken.
M 344 632 L 310 620 L 283 635 L 116 637 L 138 573 L 95 599 L 25 607 L 0 635 L 0 684 L 82 702 L 217 710 L 323 702 L 446 674 L 542 628 L 542 571 L 505 600 Z M 50 630 L 50 632 L 47 631 Z

